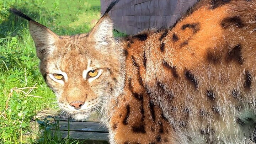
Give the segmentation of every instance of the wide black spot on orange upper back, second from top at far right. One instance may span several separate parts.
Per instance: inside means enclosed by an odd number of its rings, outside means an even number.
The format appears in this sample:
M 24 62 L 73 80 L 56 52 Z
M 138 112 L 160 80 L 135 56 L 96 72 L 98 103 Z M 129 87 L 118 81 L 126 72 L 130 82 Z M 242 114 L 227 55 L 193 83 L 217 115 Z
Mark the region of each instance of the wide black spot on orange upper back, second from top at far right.
M 234 17 L 226 17 L 224 18 L 221 23 L 220 23 L 220 26 L 222 28 L 229 28 L 230 26 L 236 26 L 236 27 L 239 27 L 239 28 L 242 28 L 244 27 L 244 23 L 241 19 L 240 16 L 234 16 Z

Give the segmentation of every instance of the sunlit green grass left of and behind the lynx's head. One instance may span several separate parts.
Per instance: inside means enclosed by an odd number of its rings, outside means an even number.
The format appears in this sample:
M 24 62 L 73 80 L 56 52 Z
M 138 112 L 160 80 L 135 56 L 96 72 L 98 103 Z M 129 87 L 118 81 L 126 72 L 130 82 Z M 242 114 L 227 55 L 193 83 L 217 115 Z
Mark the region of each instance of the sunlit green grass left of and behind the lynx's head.
M 35 139 L 24 140 L 21 135 L 30 130 L 29 122 L 37 111 L 55 106 L 51 105 L 55 96 L 38 70 L 28 22 L 10 14 L 10 7 L 59 35 L 72 35 L 89 32 L 95 25 L 100 18 L 100 0 L 0 1 L 0 143 L 34 143 Z M 114 36 L 124 34 L 114 32 Z M 18 89 L 34 86 L 37 88 Z M 44 140 L 40 143 L 59 142 L 58 138 Z

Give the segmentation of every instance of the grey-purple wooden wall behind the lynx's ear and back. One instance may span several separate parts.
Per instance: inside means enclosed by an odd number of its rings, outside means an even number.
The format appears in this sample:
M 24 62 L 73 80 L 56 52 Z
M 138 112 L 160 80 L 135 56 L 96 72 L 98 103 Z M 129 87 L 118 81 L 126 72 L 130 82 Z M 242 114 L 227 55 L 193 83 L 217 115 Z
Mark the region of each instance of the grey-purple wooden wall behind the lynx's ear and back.
M 101 0 L 101 12 L 113 0 Z M 109 12 L 114 28 L 135 34 L 152 27 L 172 26 L 181 12 L 186 12 L 196 0 L 120 0 Z

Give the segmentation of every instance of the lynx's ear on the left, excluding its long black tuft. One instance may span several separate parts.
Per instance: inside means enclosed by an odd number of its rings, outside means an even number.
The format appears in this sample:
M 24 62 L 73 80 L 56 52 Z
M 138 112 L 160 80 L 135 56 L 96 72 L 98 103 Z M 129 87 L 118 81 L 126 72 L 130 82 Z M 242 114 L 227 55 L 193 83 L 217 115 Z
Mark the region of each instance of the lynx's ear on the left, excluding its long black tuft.
M 37 57 L 40 60 L 46 58 L 56 48 L 55 43 L 59 37 L 46 26 L 36 21 L 30 21 L 30 34 L 36 45 Z

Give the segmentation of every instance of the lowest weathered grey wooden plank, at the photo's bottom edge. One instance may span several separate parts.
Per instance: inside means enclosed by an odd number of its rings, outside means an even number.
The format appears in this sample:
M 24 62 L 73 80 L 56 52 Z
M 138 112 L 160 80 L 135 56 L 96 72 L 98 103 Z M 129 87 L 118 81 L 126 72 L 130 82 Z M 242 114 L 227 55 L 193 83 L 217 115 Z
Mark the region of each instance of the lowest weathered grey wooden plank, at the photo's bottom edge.
M 62 138 L 68 138 L 68 131 L 55 131 L 54 134 L 62 135 Z M 86 140 L 86 143 L 108 142 L 108 133 L 91 133 L 91 132 L 69 132 L 69 138 Z

